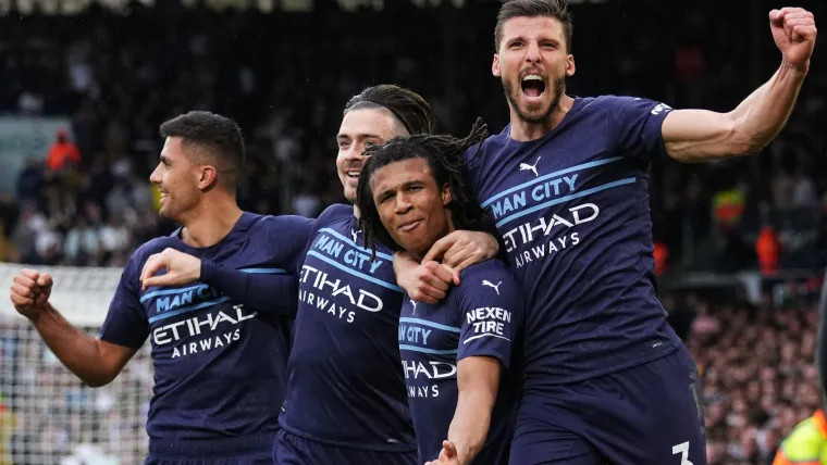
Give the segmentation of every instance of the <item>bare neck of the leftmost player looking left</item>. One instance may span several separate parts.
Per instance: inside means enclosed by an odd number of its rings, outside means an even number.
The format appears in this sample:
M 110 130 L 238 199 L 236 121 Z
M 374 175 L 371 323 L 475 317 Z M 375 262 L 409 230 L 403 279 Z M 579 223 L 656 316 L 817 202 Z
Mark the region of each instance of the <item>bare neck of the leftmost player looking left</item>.
M 182 222 L 181 240 L 189 247 L 211 247 L 233 230 L 242 217 L 242 209 L 234 198 L 201 202 Z

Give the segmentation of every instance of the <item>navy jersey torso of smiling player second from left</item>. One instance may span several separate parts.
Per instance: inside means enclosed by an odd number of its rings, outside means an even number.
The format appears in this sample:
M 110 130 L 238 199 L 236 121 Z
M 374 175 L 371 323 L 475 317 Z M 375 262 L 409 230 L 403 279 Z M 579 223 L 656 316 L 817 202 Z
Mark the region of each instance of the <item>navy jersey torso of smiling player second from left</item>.
M 353 205 L 316 221 L 299 303 L 282 427 L 332 445 L 415 450 L 396 330 L 404 291 L 391 251 L 363 247 Z

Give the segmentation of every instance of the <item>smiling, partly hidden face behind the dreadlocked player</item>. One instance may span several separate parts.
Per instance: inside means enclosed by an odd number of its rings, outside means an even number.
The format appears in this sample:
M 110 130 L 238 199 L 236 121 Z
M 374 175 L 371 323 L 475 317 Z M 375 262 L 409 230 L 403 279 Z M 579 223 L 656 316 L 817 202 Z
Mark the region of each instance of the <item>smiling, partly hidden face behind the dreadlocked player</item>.
M 356 202 L 359 173 L 365 164 L 365 149 L 382 146 L 397 136 L 408 136 L 408 131 L 396 116 L 385 109 L 353 110 L 342 118 L 342 126 L 336 136 L 336 171 L 347 200 Z

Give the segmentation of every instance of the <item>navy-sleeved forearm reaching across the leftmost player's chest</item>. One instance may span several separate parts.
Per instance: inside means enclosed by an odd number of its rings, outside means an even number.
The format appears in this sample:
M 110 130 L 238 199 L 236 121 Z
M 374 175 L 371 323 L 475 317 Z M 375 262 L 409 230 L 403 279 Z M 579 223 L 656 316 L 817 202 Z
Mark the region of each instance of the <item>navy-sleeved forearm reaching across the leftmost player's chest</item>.
M 296 314 L 298 282 L 292 275 L 244 273 L 202 260 L 200 280 L 254 310 Z

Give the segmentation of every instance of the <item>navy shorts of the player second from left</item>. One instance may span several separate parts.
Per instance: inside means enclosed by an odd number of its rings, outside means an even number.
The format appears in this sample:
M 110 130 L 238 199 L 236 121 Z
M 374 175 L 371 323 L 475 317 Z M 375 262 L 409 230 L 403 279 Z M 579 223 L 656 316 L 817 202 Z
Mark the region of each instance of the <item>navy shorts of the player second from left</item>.
M 279 432 L 273 457 L 276 465 L 417 465 L 417 451 L 379 452 L 342 448 L 311 441 L 283 429 Z

